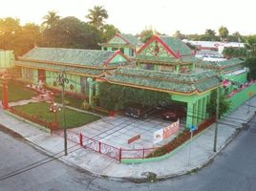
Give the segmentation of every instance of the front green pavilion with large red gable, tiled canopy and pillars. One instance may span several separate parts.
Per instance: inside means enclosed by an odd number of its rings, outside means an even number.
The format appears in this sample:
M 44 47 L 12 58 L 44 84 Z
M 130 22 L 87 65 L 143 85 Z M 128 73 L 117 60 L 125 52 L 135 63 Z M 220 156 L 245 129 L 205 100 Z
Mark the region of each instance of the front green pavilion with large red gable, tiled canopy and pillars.
M 181 40 L 153 36 L 137 55 L 137 68 L 118 69 L 107 75 L 112 84 L 168 93 L 187 107 L 186 126 L 198 125 L 208 116 L 211 92 L 220 85 L 214 71 L 196 68 L 199 62 Z

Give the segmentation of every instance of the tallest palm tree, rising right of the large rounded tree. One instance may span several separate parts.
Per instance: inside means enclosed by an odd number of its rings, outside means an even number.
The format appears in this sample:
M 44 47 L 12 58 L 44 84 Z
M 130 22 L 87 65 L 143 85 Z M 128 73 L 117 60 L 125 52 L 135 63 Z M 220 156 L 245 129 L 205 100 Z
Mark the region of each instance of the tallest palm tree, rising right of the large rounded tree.
M 86 16 L 90 19 L 90 24 L 96 27 L 96 29 L 102 29 L 104 25 L 104 19 L 109 17 L 108 12 L 102 6 L 95 6 L 93 10 L 89 10 L 89 14 Z

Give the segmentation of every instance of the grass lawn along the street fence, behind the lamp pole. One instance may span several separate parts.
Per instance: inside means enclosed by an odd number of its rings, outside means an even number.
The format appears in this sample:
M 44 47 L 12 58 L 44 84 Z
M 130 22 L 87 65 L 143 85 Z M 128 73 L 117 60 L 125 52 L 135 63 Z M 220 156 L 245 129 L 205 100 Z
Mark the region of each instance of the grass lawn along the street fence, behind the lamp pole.
M 54 121 L 54 114 L 49 111 L 49 108 L 50 104 L 45 102 L 30 103 L 27 105 L 14 107 L 14 109 L 27 113 L 29 115 L 33 115 L 47 121 Z M 65 111 L 67 128 L 80 127 L 100 118 L 94 115 L 76 112 L 68 108 L 66 108 Z M 60 127 L 63 127 L 62 111 L 57 113 L 57 121 L 59 122 Z

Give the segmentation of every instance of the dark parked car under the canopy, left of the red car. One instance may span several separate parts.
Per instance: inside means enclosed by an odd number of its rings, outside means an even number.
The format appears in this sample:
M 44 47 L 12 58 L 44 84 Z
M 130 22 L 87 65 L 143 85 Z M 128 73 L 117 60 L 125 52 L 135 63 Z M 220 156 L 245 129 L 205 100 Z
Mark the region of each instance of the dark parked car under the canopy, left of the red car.
M 143 107 L 142 105 L 129 106 L 124 109 L 124 115 L 135 118 L 146 118 L 148 115 L 155 112 L 154 107 Z

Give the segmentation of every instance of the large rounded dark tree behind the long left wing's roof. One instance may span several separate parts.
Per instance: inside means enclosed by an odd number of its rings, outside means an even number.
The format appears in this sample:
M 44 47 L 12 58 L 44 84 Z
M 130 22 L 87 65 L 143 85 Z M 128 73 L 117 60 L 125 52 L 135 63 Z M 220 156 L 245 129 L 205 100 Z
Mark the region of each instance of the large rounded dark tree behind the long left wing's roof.
M 98 49 L 100 32 L 87 23 L 69 16 L 56 21 L 53 26 L 43 32 L 42 46 Z

